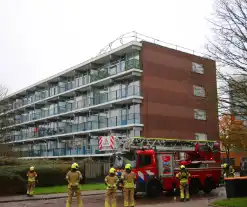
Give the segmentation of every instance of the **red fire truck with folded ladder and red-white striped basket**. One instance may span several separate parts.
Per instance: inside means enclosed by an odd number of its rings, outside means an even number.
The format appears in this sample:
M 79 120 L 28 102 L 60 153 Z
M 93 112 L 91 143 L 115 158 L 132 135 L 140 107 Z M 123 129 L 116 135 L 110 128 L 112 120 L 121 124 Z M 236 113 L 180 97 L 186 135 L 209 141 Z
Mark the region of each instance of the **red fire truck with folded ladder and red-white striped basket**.
M 123 170 L 132 165 L 136 174 L 136 193 L 143 192 L 154 197 L 166 191 L 179 193 L 176 173 L 185 165 L 191 174 L 190 193 L 210 193 L 221 182 L 220 144 L 216 141 L 178 140 L 163 138 L 109 138 L 113 166 Z

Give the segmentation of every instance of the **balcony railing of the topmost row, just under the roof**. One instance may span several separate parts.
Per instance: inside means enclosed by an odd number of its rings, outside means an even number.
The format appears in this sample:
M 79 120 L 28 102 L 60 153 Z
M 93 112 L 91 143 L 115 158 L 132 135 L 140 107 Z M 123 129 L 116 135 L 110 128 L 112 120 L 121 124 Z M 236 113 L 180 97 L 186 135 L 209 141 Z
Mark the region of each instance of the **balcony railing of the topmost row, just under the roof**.
M 112 70 L 112 68 L 114 68 L 114 66 L 116 67 L 116 70 Z M 112 75 L 116 75 L 118 73 L 121 73 L 123 71 L 127 71 L 130 69 L 140 69 L 140 63 L 139 60 L 137 59 L 131 59 L 131 60 L 127 60 L 127 61 L 118 61 L 115 64 L 109 65 L 104 67 L 101 70 L 96 71 L 93 74 L 88 75 L 87 80 L 83 81 L 83 83 L 79 83 L 75 80 L 73 81 L 69 81 L 69 82 L 62 82 L 60 84 L 58 84 L 57 86 L 53 86 L 51 88 L 47 88 L 44 91 L 38 91 L 36 92 L 36 94 L 33 94 L 25 99 L 22 100 L 18 100 L 18 102 L 14 102 L 13 104 L 9 104 L 8 106 L 6 106 L 7 111 L 13 110 L 13 109 L 17 109 L 19 107 L 23 107 L 32 103 L 35 103 L 37 101 L 40 101 L 42 99 L 54 96 L 54 95 L 59 95 L 60 93 L 66 92 L 68 90 L 86 85 L 88 83 L 92 83 L 98 80 L 101 80 L 103 78 L 107 78 L 110 77 Z

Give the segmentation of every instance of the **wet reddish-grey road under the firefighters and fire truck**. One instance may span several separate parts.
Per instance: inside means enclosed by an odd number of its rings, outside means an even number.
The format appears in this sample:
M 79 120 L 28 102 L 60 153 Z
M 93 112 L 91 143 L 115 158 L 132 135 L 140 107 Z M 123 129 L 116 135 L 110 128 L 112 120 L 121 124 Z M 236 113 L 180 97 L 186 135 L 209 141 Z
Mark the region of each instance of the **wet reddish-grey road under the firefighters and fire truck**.
M 221 195 L 220 195 L 221 194 Z M 218 188 L 209 195 L 197 195 L 193 196 L 190 201 L 181 203 L 179 197 L 162 195 L 159 198 L 149 199 L 147 197 L 139 196 L 136 200 L 136 206 L 145 207 L 208 207 L 209 199 L 213 199 L 217 196 L 224 194 L 223 188 Z M 122 196 L 117 198 L 119 207 L 123 206 Z M 51 200 L 38 200 L 38 201 L 26 201 L 26 202 L 13 202 L 13 203 L 1 203 L 0 207 L 63 207 L 65 206 L 66 199 L 51 199 Z M 104 206 L 104 195 L 98 196 L 86 196 L 83 198 L 84 207 L 102 207 Z M 73 200 L 72 206 L 76 207 L 76 201 Z

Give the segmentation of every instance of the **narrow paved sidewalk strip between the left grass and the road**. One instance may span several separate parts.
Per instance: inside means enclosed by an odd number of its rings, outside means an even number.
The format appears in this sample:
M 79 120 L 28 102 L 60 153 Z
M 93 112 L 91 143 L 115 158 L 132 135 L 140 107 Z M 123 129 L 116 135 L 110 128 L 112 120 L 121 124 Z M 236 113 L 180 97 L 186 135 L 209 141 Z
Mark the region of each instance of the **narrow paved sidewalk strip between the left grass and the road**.
M 93 196 L 105 194 L 105 190 L 95 190 L 95 191 L 82 191 L 82 196 Z M 26 195 L 15 195 L 15 196 L 0 196 L 0 203 L 8 202 L 20 202 L 20 201 L 30 201 L 30 200 L 48 200 L 57 198 L 66 198 L 67 193 L 59 194 L 46 194 L 46 195 L 34 195 L 33 197 L 28 197 Z

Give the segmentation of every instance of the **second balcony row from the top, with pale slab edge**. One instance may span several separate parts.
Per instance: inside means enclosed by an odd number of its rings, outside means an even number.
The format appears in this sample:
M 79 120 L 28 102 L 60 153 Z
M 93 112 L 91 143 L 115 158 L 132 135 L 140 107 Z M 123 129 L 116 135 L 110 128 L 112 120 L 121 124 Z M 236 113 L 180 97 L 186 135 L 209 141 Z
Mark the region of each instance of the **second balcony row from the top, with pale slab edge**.
M 123 104 L 132 103 L 129 97 L 138 98 L 141 95 L 140 87 L 133 85 L 125 89 L 119 89 L 115 91 L 106 92 L 103 94 L 97 94 L 92 98 L 84 99 L 77 102 L 60 102 L 59 104 L 50 105 L 49 108 L 43 108 L 38 113 L 29 113 L 21 116 L 21 120 L 16 121 L 15 125 L 20 126 L 23 124 L 30 124 L 33 122 L 44 122 L 44 120 L 54 119 L 60 115 L 70 115 L 71 113 L 79 113 L 81 111 L 88 111 L 89 109 L 97 109 L 107 107 L 107 104 L 114 104 L 124 101 Z

